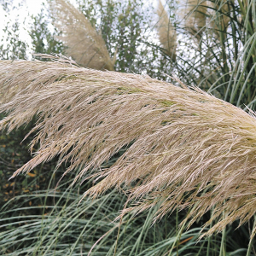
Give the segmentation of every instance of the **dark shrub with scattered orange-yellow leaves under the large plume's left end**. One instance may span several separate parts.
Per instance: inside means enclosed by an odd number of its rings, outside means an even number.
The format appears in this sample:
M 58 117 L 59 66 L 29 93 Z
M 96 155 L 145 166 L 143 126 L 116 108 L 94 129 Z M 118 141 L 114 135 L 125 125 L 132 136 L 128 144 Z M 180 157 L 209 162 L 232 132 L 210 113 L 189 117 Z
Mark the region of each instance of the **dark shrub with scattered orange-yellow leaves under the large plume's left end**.
M 3 114 L 0 116 L 3 119 Z M 24 125 L 17 131 L 11 131 L 6 134 L 0 134 L 0 208 L 9 201 L 9 207 L 15 207 L 12 201 L 15 195 L 30 195 L 35 191 L 47 189 L 49 187 L 49 180 L 52 177 L 51 172 L 54 171 L 56 160 L 50 163 L 40 165 L 25 176 L 15 177 L 9 180 L 12 173 L 23 166 L 27 161 L 32 159 L 32 154 L 28 150 L 29 143 L 33 138 L 33 134 L 22 141 L 26 134 L 31 131 L 35 120 L 32 120 L 28 125 Z M 34 153 L 38 145 L 32 150 Z M 60 170 L 64 170 L 61 166 Z M 53 177 L 53 186 L 57 183 L 60 176 Z M 43 202 L 41 202 L 42 204 Z M 31 201 L 27 202 L 27 207 L 31 206 Z M 29 212 L 29 211 L 28 211 Z M 27 213 L 23 212 L 23 213 Z

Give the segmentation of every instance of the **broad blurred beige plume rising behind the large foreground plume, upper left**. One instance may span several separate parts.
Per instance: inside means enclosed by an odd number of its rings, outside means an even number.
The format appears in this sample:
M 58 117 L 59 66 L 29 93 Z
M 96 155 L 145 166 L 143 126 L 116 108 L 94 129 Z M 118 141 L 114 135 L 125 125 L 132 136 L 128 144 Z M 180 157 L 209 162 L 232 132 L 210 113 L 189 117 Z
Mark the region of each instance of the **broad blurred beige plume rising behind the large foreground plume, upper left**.
M 50 4 L 55 17 L 55 26 L 63 32 L 60 38 L 67 45 L 67 55 L 83 67 L 114 70 L 102 35 L 96 32 L 90 21 L 66 0 L 55 0 Z

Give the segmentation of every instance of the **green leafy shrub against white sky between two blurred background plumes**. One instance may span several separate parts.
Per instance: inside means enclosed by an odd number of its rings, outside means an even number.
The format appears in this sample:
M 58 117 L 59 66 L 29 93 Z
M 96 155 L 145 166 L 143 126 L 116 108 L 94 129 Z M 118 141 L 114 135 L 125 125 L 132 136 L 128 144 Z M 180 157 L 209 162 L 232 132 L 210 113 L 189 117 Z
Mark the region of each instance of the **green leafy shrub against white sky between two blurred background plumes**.
M 172 71 L 170 57 L 154 43 L 154 9 L 141 0 L 78 0 L 79 9 L 102 33 L 110 56 L 117 52 L 115 70 L 147 73 L 163 79 Z

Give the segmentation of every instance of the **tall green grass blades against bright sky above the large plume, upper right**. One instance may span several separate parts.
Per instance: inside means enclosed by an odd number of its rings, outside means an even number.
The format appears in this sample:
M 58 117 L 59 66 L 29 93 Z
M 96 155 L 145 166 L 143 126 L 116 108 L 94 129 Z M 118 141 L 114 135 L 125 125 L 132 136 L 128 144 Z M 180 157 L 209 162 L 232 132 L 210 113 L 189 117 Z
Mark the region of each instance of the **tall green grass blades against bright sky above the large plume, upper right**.
M 172 3 L 173 1 L 168 1 Z M 183 26 L 179 44 L 177 76 L 185 84 L 197 85 L 237 107 L 255 108 L 255 54 L 256 27 L 255 1 L 202 1 L 201 6 L 212 3 L 208 10 L 207 25 L 196 37 Z M 220 6 L 224 6 L 222 9 Z M 195 7 L 193 12 L 199 8 Z M 224 11 L 225 8 L 225 11 Z M 177 9 L 178 11 L 178 9 Z

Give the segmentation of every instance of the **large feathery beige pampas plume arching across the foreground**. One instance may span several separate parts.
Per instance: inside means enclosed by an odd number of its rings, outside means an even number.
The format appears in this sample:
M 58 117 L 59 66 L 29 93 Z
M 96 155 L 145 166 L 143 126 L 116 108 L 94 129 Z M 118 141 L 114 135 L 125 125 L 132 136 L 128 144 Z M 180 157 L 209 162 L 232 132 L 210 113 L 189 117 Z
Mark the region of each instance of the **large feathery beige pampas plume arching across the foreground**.
M 79 170 L 73 183 L 96 182 L 84 196 L 126 189 L 137 205 L 123 213 L 157 205 L 160 218 L 189 208 L 191 224 L 212 209 L 207 224 L 218 223 L 207 234 L 253 216 L 253 114 L 197 88 L 60 61 L 0 61 L 1 129 L 38 116 L 38 152 L 13 177 L 58 156 L 67 172 Z

